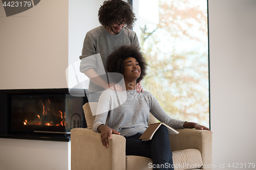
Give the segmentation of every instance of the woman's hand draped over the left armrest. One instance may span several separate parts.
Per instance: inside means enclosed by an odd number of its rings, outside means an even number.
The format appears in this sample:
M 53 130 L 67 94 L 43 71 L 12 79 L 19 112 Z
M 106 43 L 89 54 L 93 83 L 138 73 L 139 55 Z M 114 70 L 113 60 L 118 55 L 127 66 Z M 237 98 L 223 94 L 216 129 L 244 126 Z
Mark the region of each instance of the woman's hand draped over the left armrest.
M 120 135 L 119 132 L 115 131 L 114 129 L 111 129 L 110 127 L 106 125 L 100 125 L 98 126 L 98 131 L 100 132 L 101 142 L 105 148 L 109 147 L 109 139 L 112 139 L 112 134 Z

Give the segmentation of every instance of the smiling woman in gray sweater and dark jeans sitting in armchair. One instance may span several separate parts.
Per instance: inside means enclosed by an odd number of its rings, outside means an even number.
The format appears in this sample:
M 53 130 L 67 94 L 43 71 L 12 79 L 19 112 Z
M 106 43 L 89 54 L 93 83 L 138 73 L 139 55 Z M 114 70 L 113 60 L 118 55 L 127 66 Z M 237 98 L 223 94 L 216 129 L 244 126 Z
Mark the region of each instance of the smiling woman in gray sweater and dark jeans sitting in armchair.
M 139 140 L 147 128 L 150 112 L 160 122 L 175 129 L 209 129 L 196 123 L 171 118 L 150 92 L 136 92 L 136 81 L 142 80 L 146 75 L 147 66 L 138 46 L 121 46 L 106 62 L 108 72 L 122 74 L 126 91 L 115 92 L 109 89 L 100 96 L 93 129 L 101 133 L 103 146 L 109 147 L 108 139 L 111 139 L 112 134 L 122 135 L 126 138 L 126 155 L 152 158 L 153 164 L 163 165 L 161 169 L 173 169 L 172 166 L 164 166 L 166 163 L 173 164 L 165 126 L 156 131 L 152 140 Z

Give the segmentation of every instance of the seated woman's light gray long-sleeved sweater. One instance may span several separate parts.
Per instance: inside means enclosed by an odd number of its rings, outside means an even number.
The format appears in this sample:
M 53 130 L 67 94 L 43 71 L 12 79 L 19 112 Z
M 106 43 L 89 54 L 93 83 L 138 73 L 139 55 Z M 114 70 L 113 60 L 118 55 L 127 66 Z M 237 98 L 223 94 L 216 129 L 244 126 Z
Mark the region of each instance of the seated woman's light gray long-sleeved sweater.
M 150 119 L 150 112 L 160 121 L 175 128 L 183 128 L 185 121 L 167 115 L 148 91 L 138 93 L 136 90 L 117 92 L 111 89 L 102 92 L 93 130 L 104 124 L 120 132 L 122 136 L 143 133 Z

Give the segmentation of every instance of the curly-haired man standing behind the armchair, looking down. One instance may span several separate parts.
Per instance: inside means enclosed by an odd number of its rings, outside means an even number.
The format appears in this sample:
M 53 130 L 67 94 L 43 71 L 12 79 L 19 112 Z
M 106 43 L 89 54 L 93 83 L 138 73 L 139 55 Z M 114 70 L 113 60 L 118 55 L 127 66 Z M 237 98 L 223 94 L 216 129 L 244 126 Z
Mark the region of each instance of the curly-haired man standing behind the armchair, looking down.
M 98 16 L 101 26 L 89 31 L 83 42 L 80 71 L 91 80 L 90 92 L 100 92 L 109 87 L 121 91 L 122 87 L 118 84 L 113 87 L 115 83 L 108 83 L 104 74 L 106 59 L 121 45 L 139 45 L 136 33 L 129 29 L 134 25 L 136 17 L 130 5 L 121 0 L 105 1 Z M 139 85 L 138 91 L 140 90 Z

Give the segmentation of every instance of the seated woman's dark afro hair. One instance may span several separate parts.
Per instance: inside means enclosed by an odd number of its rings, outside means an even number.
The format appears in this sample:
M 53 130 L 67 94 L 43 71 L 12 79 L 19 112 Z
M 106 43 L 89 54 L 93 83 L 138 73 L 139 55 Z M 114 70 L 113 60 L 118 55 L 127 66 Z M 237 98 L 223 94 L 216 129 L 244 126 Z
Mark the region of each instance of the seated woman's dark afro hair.
M 106 60 L 106 70 L 123 74 L 123 61 L 128 57 L 135 58 L 139 63 L 140 77 L 137 79 L 137 83 L 139 83 L 146 76 L 147 62 L 140 52 L 138 44 L 122 45 L 116 48 Z

